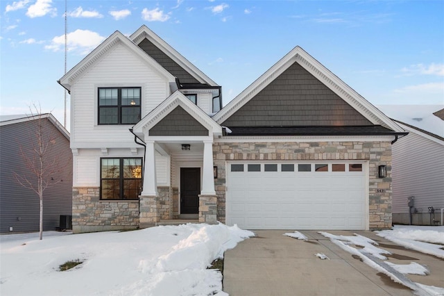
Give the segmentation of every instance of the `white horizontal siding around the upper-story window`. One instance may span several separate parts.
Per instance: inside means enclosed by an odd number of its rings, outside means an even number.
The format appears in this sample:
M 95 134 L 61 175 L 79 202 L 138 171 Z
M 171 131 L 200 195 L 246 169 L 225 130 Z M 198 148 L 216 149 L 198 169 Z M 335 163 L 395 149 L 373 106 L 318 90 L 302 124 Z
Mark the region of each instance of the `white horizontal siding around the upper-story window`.
M 134 136 L 128 131 L 130 126 L 97 125 L 97 88 L 110 86 L 142 87 L 142 117 L 169 95 L 167 79 L 150 69 L 125 46 L 116 45 L 74 83 L 71 90 L 74 101 L 71 147 L 82 142 L 89 142 L 93 147 L 94 143 L 115 147 L 117 142 L 137 147 Z

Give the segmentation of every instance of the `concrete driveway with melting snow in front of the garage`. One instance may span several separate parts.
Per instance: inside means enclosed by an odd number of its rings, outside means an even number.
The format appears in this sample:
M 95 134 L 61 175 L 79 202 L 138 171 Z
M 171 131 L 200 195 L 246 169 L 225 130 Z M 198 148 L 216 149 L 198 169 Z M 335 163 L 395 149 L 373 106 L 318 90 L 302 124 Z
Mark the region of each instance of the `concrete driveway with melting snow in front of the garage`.
M 283 236 L 293 231 L 255 231 L 256 237 L 240 242 L 225 252 L 223 290 L 231 296 L 245 295 L 413 295 L 385 274 L 335 245 L 317 231 L 300 231 L 308 241 Z M 388 260 L 427 265 L 431 274 L 409 279 L 429 286 L 444 287 L 444 262 L 434 256 L 404 249 L 375 236 L 371 231 L 326 231 L 352 236 L 359 233 L 393 253 Z M 321 260 L 316 253 L 330 260 Z

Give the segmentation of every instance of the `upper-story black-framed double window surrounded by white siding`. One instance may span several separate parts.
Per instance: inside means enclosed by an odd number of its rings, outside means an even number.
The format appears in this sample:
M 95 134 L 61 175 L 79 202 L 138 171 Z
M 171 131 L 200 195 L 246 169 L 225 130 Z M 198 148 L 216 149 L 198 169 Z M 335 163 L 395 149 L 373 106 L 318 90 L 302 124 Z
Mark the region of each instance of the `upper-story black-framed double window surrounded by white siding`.
M 136 124 L 140 88 L 99 88 L 99 124 Z

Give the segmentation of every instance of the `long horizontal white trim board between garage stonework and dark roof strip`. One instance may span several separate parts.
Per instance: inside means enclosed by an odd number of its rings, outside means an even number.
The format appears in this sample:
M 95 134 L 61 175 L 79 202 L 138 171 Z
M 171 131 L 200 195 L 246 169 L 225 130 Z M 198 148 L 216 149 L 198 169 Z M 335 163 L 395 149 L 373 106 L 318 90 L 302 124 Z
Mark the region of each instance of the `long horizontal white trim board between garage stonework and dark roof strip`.
M 391 142 L 393 140 L 395 135 L 226 135 L 215 139 L 214 142 Z

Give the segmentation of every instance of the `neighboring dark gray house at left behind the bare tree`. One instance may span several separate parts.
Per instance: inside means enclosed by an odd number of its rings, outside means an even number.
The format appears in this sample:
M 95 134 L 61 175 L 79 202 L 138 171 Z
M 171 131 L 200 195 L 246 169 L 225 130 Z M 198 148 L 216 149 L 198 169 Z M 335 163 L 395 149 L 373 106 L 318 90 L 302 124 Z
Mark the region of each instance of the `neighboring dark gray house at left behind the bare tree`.
M 44 190 L 43 230 L 56 230 L 60 215 L 72 213 L 72 156 L 69 149 L 69 133 L 51 114 L 40 115 L 45 135 L 56 135 L 49 159 L 57 159 L 63 170 L 58 174 L 61 181 Z M 14 178 L 13 172 L 27 172 L 22 151 L 28 151 L 37 141 L 35 127 L 39 115 L 0 116 L 0 232 L 38 231 L 40 199 L 33 190 L 24 188 Z M 28 154 L 31 156 L 31 154 Z M 65 220 L 66 222 L 66 220 Z M 65 227 L 64 227 L 65 228 Z

